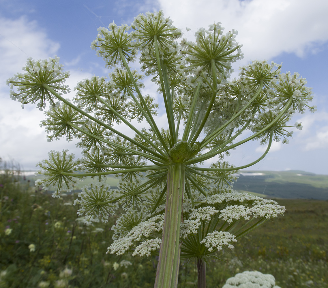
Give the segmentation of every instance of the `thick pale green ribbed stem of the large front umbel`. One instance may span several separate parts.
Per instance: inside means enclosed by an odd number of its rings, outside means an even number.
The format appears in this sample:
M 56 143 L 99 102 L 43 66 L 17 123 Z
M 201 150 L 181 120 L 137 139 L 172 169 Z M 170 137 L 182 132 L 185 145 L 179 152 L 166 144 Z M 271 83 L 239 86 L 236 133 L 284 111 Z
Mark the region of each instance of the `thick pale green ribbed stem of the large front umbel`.
M 154 288 L 177 287 L 180 264 L 180 223 L 185 170 L 181 163 L 169 167 L 162 244 Z

